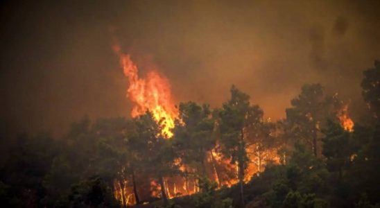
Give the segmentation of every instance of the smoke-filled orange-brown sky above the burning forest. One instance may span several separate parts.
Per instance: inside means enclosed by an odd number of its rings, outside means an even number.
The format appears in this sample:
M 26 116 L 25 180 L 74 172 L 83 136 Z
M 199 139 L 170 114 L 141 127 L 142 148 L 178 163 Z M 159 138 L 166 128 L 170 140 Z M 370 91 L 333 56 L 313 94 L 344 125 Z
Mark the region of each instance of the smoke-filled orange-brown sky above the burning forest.
M 305 83 L 361 101 L 380 58 L 379 1 L 5 1 L 0 14 L 3 133 L 130 116 L 115 39 L 175 103 L 219 107 L 234 84 L 273 119 Z

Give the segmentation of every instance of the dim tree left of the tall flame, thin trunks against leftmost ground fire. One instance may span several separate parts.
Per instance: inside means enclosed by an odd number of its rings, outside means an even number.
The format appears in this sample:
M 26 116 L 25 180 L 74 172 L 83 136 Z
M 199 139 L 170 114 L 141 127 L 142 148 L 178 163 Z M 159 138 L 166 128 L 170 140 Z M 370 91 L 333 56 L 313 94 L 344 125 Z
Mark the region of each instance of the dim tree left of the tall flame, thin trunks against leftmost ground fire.
M 100 119 L 97 121 L 92 131 L 96 134 L 96 150 L 92 158 L 98 164 L 96 174 L 101 175 L 108 184 L 114 184 L 117 180 L 121 190 L 121 202 L 127 206 L 124 187 L 127 186 L 129 178 L 132 179 L 133 190 L 136 203 L 139 204 L 137 186 L 131 148 L 128 145 L 126 135 L 132 131 L 132 122 L 123 118 Z M 114 187 L 116 189 L 116 187 Z

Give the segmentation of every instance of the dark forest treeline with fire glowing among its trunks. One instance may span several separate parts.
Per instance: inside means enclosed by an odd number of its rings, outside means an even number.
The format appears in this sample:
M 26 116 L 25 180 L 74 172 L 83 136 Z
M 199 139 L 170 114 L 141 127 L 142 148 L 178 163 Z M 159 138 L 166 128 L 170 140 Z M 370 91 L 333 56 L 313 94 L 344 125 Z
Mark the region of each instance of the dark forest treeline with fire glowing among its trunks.
M 311 84 L 291 100 L 286 119 L 276 122 L 232 86 L 219 109 L 180 103 L 171 139 L 150 112 L 135 119 L 85 118 L 61 139 L 3 137 L 1 204 L 380 207 L 379 61 L 363 72 L 361 87 L 370 116 L 352 130 L 339 117 L 347 116 L 347 103 Z M 268 150 L 277 154 L 268 156 Z M 223 161 L 235 168 L 223 168 Z M 251 164 L 254 175 L 246 180 Z M 173 198 L 169 178 L 183 180 L 185 193 L 175 195 L 192 193 L 190 186 L 195 194 Z

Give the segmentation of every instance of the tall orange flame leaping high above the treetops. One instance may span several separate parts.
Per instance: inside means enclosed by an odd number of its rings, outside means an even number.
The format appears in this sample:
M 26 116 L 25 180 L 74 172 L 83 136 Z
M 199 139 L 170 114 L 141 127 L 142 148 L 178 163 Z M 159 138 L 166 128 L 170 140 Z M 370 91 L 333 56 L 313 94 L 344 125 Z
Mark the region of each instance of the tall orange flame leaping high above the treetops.
M 173 136 L 171 129 L 174 128 L 174 120 L 178 112 L 171 99 L 169 80 L 159 76 L 155 69 L 150 69 L 146 78 L 140 78 L 139 69 L 130 59 L 130 55 L 121 53 L 119 46 L 114 46 L 114 51 L 119 55 L 124 75 L 129 80 L 126 96 L 135 103 L 132 108 L 132 117 L 145 114 L 149 110 L 157 123 L 162 122 L 162 135 L 171 138 Z

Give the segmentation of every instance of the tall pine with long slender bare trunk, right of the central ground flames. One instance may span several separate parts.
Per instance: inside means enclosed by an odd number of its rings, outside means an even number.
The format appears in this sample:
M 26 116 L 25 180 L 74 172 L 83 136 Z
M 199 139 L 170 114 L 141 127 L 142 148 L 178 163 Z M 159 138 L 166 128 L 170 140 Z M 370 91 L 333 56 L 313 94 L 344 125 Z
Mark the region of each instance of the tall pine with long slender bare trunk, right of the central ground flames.
M 221 145 L 223 153 L 238 166 L 241 204 L 244 205 L 243 180 L 248 162 L 245 140 L 248 136 L 248 128 L 253 123 L 261 121 L 263 112 L 258 105 L 250 105 L 250 96 L 234 85 L 230 92 L 230 100 L 223 103 L 222 110 L 219 112 Z

